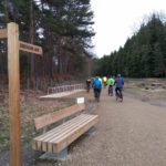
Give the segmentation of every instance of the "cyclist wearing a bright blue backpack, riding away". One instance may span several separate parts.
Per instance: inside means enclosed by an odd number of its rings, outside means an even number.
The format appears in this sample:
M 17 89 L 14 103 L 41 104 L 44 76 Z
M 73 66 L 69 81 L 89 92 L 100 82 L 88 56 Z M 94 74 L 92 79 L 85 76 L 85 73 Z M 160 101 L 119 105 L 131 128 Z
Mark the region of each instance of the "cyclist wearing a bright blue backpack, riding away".
M 94 90 L 94 97 L 97 100 L 97 102 L 100 102 L 100 95 L 101 95 L 101 91 L 102 91 L 102 82 L 98 76 L 96 76 L 94 79 L 93 90 Z

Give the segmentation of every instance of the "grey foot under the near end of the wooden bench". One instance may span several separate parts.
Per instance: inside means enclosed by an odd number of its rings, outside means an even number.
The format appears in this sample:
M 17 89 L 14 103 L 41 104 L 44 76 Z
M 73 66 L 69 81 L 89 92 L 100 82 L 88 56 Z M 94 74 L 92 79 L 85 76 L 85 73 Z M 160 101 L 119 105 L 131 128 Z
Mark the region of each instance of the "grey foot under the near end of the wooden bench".
M 60 153 L 44 153 L 40 159 L 52 159 L 52 160 L 65 160 L 68 157 L 68 148 L 64 148 Z

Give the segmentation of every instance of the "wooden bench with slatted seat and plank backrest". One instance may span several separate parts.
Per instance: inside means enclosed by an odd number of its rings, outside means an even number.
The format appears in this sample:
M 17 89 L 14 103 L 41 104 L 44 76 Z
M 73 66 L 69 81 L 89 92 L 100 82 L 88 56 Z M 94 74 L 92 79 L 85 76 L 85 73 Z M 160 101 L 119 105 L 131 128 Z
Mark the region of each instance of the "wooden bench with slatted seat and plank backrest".
M 84 104 L 75 104 L 33 120 L 35 129 L 43 128 L 85 110 Z M 89 131 L 97 122 L 97 115 L 79 114 L 33 138 L 32 148 L 41 152 L 61 153 L 72 142 Z

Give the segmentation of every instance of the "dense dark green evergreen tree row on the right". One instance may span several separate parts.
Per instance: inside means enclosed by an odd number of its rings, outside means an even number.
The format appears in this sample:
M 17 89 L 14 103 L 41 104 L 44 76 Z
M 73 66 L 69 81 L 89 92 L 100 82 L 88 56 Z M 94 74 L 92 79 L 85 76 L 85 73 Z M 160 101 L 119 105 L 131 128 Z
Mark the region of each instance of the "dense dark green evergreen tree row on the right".
M 98 71 L 108 63 L 113 73 L 131 77 L 166 76 L 166 24 L 159 15 L 152 14 L 124 48 L 110 54 L 107 60 L 98 60 Z

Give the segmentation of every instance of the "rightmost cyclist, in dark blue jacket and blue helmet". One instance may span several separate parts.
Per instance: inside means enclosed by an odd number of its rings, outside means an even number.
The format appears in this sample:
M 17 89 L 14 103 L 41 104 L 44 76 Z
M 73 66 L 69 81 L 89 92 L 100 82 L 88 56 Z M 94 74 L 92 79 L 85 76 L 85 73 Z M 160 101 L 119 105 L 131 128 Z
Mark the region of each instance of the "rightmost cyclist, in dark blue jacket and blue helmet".
M 124 81 L 123 81 L 123 77 L 121 76 L 121 74 L 117 74 L 117 77 L 115 79 L 115 84 L 116 84 L 116 89 L 115 89 L 116 100 L 117 100 L 117 97 L 120 97 L 121 102 L 122 102 L 123 101 L 122 89 L 124 86 Z

